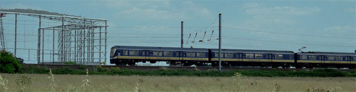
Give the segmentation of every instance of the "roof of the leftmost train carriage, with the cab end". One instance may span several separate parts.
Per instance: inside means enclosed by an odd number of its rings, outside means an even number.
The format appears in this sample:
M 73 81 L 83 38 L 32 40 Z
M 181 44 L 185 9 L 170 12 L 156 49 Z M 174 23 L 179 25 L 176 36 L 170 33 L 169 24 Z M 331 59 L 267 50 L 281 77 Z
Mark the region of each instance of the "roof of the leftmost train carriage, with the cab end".
M 125 49 L 150 49 L 150 50 L 181 50 L 181 51 L 209 51 L 207 48 L 181 48 L 181 47 L 157 47 L 157 46 L 125 46 L 115 45 L 112 48 Z

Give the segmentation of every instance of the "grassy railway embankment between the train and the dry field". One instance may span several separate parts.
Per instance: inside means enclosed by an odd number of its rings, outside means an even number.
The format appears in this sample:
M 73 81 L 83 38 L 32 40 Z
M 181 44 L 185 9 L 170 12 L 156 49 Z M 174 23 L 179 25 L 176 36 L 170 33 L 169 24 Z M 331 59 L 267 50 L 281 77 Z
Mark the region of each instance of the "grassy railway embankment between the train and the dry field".
M 54 74 L 98 75 L 142 75 L 142 76 L 233 76 L 239 72 L 244 76 L 266 77 L 354 77 L 354 69 L 284 69 L 284 68 L 223 68 L 216 67 L 179 67 L 179 66 L 112 66 L 112 65 L 44 65 L 23 64 L 20 73 L 46 74 L 52 68 Z

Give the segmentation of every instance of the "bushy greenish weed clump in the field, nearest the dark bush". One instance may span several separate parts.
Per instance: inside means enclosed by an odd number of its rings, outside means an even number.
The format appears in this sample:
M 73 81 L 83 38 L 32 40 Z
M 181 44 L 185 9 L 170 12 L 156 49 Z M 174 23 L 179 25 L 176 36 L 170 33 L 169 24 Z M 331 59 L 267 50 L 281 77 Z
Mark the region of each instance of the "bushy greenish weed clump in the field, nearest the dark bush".
M 25 91 L 26 86 L 32 83 L 31 77 L 26 75 L 16 76 L 15 82 L 20 86 L 20 91 Z

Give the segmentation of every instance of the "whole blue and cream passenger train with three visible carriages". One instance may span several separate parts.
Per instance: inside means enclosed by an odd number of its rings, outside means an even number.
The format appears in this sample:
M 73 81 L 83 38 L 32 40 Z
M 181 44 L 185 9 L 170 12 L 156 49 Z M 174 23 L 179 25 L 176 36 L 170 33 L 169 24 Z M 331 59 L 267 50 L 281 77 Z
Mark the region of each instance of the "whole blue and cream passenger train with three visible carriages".
M 221 66 L 260 66 L 272 68 L 355 68 L 356 53 L 293 52 L 287 50 L 221 49 Z M 110 63 L 136 65 L 136 62 L 166 61 L 170 65 L 219 65 L 219 49 L 115 45 Z

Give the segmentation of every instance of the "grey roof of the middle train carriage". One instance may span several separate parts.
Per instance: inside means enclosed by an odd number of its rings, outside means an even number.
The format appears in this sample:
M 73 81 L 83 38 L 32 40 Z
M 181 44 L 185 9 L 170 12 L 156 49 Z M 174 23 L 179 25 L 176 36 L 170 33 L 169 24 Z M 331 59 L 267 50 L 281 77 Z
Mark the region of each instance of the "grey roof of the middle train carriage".
M 212 52 L 218 52 L 219 49 L 213 48 Z M 283 51 L 283 50 L 251 50 L 251 49 L 221 49 L 222 52 L 244 52 L 244 53 L 284 53 L 284 54 L 294 54 L 293 51 Z

